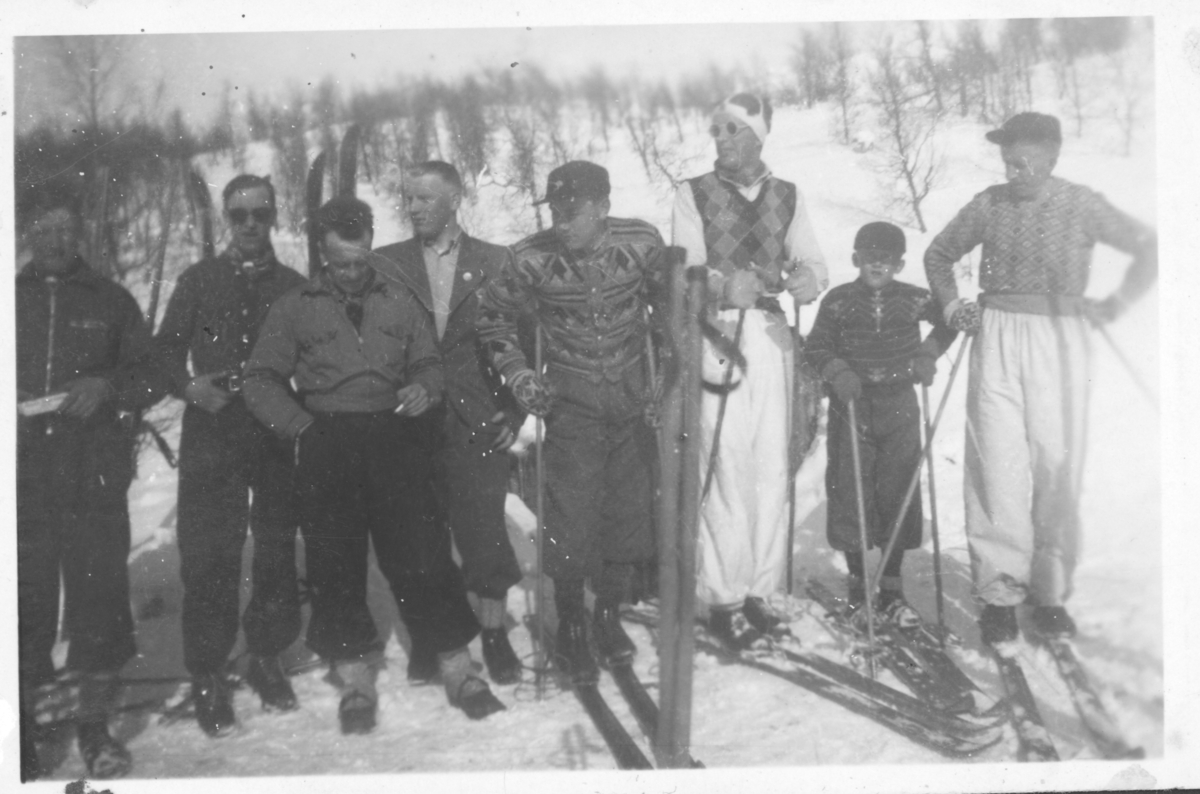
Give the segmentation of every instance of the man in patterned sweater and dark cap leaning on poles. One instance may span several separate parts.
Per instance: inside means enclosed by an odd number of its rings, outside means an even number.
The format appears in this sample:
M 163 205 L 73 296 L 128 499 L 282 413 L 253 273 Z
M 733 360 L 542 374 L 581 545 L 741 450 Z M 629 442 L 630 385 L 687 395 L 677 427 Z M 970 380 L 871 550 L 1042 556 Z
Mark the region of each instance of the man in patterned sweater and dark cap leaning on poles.
M 649 223 L 608 217 L 608 172 L 594 163 L 551 172 L 544 201 L 553 227 L 512 246 L 476 323 L 517 402 L 546 417 L 544 565 L 559 618 L 556 661 L 581 684 L 599 674 L 584 579 L 601 658 L 629 658 L 635 646 L 618 609 L 636 566 L 654 554 L 656 440 L 644 420 L 652 389 L 643 351 L 647 303 L 665 309 L 666 255 Z M 540 325 L 545 374 L 517 342 L 522 315 Z

